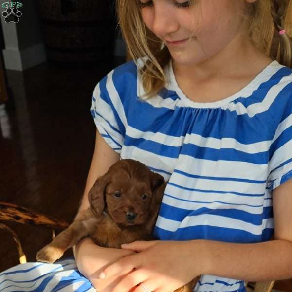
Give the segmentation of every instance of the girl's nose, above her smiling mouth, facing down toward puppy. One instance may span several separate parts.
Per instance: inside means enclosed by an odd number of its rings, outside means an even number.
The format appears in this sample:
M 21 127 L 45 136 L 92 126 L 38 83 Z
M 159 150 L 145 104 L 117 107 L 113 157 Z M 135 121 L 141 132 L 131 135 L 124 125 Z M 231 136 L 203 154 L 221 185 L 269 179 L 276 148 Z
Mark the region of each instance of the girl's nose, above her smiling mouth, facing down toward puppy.
M 168 9 L 165 5 L 159 5 L 158 3 L 154 8 L 152 31 L 159 37 L 165 37 L 167 34 L 176 32 L 179 29 L 179 23 L 172 8 Z

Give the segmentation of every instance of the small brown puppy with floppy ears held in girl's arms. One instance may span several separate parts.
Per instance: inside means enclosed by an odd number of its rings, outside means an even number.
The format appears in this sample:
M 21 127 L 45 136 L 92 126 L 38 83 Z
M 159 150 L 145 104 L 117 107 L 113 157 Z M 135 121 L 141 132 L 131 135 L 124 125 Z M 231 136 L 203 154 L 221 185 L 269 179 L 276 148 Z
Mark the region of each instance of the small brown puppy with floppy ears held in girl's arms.
M 164 189 L 164 178 L 145 164 L 120 160 L 98 178 L 89 191 L 90 208 L 37 253 L 37 260 L 53 263 L 82 238 L 97 245 L 121 248 L 135 240 L 151 240 Z M 189 283 L 177 292 L 190 292 Z

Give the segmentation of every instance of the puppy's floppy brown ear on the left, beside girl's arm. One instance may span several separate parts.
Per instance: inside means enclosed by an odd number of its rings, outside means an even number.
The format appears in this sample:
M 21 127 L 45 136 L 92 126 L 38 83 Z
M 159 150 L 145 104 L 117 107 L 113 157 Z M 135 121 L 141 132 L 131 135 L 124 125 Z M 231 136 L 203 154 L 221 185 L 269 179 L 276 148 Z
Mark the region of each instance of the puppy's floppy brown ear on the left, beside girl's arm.
M 88 192 L 88 201 L 91 211 L 100 216 L 105 208 L 105 191 L 109 183 L 109 175 L 99 177 Z

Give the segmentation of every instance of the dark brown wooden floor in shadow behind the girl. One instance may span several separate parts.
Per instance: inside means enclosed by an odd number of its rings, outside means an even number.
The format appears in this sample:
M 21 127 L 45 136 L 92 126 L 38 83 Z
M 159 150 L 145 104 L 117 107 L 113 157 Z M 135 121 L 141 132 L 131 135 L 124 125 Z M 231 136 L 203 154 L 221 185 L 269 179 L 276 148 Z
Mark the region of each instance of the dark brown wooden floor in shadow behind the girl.
M 74 218 L 94 148 L 92 92 L 123 62 L 115 59 L 95 70 L 62 70 L 44 63 L 7 72 L 14 107 L 0 105 L 0 201 Z M 7 225 L 20 237 L 28 261 L 52 237 L 44 228 Z M 16 245 L 0 229 L 0 271 L 17 264 Z M 292 281 L 278 282 L 276 288 L 292 292 Z

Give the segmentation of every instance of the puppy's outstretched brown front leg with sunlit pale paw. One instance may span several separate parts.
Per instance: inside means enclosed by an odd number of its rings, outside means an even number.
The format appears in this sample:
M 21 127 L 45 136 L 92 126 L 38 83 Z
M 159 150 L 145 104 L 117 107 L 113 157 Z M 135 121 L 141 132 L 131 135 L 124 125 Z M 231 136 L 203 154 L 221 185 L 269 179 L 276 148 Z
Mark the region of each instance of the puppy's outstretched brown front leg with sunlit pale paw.
M 76 245 L 84 237 L 87 237 L 96 222 L 97 220 L 92 217 L 74 220 L 67 229 L 58 234 L 51 243 L 37 253 L 37 261 L 55 262 L 63 256 L 67 249 Z

